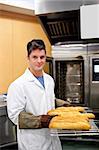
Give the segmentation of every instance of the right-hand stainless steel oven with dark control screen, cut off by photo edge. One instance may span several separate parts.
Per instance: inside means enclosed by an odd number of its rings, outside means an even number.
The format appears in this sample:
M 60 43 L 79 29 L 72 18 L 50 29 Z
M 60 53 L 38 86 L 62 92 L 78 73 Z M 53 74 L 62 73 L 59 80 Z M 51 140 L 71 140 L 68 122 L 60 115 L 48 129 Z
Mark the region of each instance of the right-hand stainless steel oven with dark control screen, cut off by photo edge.
M 99 43 L 88 45 L 89 60 L 89 107 L 99 114 Z M 97 115 L 99 119 L 99 115 Z

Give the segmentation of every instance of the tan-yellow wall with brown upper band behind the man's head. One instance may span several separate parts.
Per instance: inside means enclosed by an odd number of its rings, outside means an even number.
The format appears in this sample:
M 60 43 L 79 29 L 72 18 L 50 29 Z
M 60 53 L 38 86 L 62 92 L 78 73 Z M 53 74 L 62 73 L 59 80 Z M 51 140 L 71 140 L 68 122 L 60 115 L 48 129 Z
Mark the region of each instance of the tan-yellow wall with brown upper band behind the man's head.
M 47 56 L 51 45 L 36 16 L 0 10 L 0 93 L 27 67 L 26 44 L 33 38 L 45 41 Z

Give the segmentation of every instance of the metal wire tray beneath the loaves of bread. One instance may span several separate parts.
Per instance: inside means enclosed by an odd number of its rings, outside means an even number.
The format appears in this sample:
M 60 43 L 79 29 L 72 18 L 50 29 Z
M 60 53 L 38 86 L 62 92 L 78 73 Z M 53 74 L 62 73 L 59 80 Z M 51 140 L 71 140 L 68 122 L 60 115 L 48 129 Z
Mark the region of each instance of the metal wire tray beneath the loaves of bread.
M 94 120 L 90 120 L 91 129 L 88 131 L 81 130 L 65 130 L 65 129 L 50 129 L 51 136 L 90 136 L 90 135 L 99 135 L 99 129 L 96 126 Z

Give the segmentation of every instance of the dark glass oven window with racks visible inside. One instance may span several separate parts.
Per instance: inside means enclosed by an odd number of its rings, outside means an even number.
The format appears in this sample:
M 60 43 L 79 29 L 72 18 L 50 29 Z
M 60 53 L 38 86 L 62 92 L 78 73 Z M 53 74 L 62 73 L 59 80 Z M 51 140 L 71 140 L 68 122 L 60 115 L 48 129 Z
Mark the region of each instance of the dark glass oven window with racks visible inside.
M 84 103 L 84 62 L 83 60 L 56 61 L 57 98 L 71 103 Z

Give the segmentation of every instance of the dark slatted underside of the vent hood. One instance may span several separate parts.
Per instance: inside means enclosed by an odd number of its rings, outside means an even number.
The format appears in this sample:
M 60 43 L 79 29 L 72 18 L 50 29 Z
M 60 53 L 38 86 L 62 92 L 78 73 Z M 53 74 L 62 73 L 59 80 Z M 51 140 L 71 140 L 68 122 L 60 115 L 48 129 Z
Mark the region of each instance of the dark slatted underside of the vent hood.
M 52 45 L 80 39 L 79 10 L 40 15 L 39 19 Z

